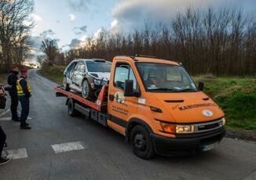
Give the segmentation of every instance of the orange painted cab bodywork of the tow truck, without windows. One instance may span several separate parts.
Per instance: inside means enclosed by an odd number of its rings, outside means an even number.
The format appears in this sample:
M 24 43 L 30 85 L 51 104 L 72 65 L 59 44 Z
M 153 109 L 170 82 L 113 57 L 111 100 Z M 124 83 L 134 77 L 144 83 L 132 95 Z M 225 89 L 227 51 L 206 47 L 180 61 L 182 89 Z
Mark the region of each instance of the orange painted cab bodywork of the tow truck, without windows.
M 224 113 L 219 106 L 203 92 L 146 92 L 139 72 L 137 71 L 137 67 L 134 64 L 134 59 L 127 56 L 117 56 L 113 60 L 113 73 L 110 77 L 110 85 L 108 89 L 109 95 L 115 95 L 117 93 L 123 94 L 122 90 L 115 88 L 113 85 L 115 64 L 120 62 L 129 63 L 133 68 L 133 73 L 136 76 L 137 83 L 141 90 L 141 96 L 139 98 L 125 97 L 125 103 L 117 103 L 115 99 L 112 102 L 108 99 L 108 113 L 114 115 L 115 117 L 119 117 L 127 123 L 133 118 L 140 119 L 148 124 L 155 134 L 170 138 L 175 138 L 176 135 L 164 133 L 158 120 L 175 124 L 193 124 L 214 121 L 224 117 Z M 180 66 L 179 63 L 173 61 L 145 57 L 137 57 L 136 62 L 164 63 Z M 142 99 L 145 102 L 140 103 L 139 99 Z M 172 102 L 168 103 L 170 100 Z M 153 112 L 150 110 L 150 106 L 158 107 L 159 109 L 163 110 L 163 113 Z M 211 117 L 206 117 L 202 113 L 203 110 L 210 110 L 214 115 Z M 119 131 L 123 131 L 123 128 L 119 127 Z

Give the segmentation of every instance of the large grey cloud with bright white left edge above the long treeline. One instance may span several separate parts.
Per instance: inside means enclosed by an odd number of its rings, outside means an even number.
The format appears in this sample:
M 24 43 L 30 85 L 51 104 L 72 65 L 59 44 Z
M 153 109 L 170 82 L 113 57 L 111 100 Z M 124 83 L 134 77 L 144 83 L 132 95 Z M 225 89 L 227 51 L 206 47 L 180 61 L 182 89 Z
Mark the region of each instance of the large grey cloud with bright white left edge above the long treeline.
M 186 8 L 206 9 L 213 7 L 244 8 L 254 12 L 255 0 L 123 0 L 117 3 L 112 11 L 112 31 L 129 31 L 144 26 L 144 22 L 168 23 L 178 12 Z M 252 8 L 254 7 L 254 8 Z

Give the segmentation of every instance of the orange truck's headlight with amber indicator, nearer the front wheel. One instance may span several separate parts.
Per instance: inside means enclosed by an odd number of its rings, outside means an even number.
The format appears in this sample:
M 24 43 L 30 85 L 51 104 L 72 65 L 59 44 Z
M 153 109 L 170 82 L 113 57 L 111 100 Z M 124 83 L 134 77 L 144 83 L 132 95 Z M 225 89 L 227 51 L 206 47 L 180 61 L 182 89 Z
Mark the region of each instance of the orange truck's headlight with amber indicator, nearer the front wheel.
M 185 134 L 185 133 L 192 133 L 194 132 L 193 125 L 175 125 L 175 124 L 166 124 L 161 122 L 163 131 L 166 133 L 172 134 Z

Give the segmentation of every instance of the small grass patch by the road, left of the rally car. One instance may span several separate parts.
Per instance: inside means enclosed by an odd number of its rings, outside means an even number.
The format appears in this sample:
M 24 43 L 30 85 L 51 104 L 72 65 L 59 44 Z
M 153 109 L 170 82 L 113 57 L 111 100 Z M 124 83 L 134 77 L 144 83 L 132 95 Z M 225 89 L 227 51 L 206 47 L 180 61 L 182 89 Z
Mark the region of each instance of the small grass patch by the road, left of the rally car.
M 63 71 L 65 67 L 63 66 L 48 66 L 43 67 L 42 70 L 39 71 L 40 74 L 49 78 L 50 80 L 56 82 L 57 84 L 61 85 L 63 81 Z

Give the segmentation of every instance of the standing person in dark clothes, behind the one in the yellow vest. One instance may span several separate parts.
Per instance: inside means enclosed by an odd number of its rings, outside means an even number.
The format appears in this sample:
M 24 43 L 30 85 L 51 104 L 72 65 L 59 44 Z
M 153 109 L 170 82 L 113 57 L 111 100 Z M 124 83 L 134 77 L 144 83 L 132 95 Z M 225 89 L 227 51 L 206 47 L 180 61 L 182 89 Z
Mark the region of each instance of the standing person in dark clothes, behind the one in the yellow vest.
M 11 112 L 12 112 L 12 120 L 20 121 L 17 113 L 17 107 L 19 104 L 17 89 L 16 89 L 16 81 L 18 80 L 19 69 L 17 66 L 13 66 L 11 70 L 9 70 L 8 74 L 8 84 L 12 86 L 9 89 L 9 95 L 11 96 Z

